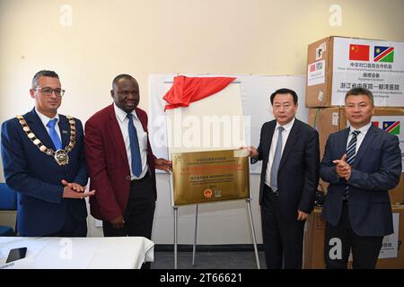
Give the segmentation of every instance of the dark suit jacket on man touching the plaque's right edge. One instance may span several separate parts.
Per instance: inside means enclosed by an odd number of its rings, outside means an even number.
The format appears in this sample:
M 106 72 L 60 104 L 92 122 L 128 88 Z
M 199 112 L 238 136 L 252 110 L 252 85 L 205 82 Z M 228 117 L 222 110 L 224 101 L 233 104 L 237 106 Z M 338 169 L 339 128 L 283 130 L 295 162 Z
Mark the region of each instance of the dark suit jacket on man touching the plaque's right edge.
M 277 121 L 265 123 L 259 139 L 259 157 L 251 163 L 262 162 L 259 204 L 262 203 L 269 149 Z M 311 213 L 319 184 L 320 148 L 318 132 L 297 118 L 285 143 L 277 172 L 277 187 L 281 216 L 286 222 L 297 220 L 297 210 Z

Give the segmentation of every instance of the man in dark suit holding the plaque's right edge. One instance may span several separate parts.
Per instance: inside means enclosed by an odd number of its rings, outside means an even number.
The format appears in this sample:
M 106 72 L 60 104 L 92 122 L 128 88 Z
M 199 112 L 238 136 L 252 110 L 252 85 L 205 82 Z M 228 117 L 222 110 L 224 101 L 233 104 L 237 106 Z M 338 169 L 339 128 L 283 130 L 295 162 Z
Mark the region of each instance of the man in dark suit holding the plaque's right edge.
M 267 267 L 302 268 L 304 222 L 312 212 L 319 183 L 319 134 L 294 118 L 297 94 L 275 91 L 275 120 L 261 128 L 251 163 L 263 161 L 259 186 L 262 236 Z

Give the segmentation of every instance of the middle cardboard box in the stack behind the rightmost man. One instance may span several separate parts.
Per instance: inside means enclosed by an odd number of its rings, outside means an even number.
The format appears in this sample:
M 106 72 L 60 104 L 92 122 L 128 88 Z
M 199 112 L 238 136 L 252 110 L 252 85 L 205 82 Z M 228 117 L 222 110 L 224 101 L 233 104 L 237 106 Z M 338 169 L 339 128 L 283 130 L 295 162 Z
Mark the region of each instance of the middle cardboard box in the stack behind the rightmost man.
M 384 122 L 400 121 L 404 125 L 404 109 L 375 108 L 372 121 L 379 127 Z M 319 131 L 321 159 L 324 155 L 325 144 L 329 135 L 347 127 L 347 117 L 344 108 L 318 108 L 309 109 L 309 125 Z M 401 157 L 404 154 L 404 127 L 399 125 L 399 138 Z M 404 164 L 403 164 L 404 169 Z M 328 183 L 320 180 L 321 187 L 327 190 Z M 404 204 L 404 173 L 401 173 L 400 184 L 389 192 L 391 204 Z

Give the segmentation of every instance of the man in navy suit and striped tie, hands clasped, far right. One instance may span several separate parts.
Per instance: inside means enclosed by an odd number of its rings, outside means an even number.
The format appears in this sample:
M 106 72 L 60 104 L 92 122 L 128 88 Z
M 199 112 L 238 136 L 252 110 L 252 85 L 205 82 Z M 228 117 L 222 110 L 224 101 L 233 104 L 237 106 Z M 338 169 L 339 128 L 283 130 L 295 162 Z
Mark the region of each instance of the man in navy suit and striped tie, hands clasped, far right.
M 399 138 L 371 123 L 373 94 L 354 88 L 345 97 L 349 127 L 329 135 L 321 178 L 329 182 L 323 208 L 328 268 L 374 268 L 383 236 L 393 233 L 388 190 L 401 173 Z

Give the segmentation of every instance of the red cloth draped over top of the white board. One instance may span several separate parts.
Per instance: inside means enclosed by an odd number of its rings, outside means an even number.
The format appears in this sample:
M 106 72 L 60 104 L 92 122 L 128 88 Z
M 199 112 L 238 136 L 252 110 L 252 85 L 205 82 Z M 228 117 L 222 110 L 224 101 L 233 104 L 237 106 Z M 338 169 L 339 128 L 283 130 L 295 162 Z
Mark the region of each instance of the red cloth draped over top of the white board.
M 166 109 L 188 107 L 192 101 L 197 101 L 222 91 L 236 78 L 230 77 L 186 77 L 179 75 L 174 77 L 174 83 L 170 91 L 162 99 L 168 102 Z

